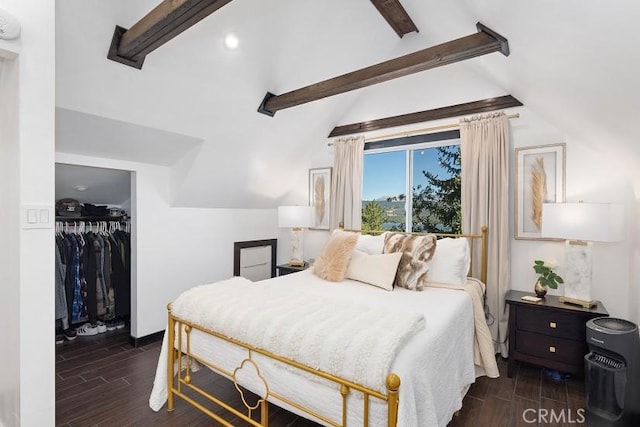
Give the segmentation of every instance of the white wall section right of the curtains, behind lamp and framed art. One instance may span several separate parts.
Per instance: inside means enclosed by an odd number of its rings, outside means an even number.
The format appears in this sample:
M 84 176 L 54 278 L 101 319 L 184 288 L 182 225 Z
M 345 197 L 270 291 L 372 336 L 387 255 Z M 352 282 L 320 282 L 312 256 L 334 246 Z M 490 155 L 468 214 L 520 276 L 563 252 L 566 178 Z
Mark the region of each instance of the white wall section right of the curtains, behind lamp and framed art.
M 598 146 L 597 150 L 588 141 L 578 140 L 563 134 L 544 119 L 527 108 L 521 109 L 521 117 L 511 121 L 511 143 L 513 148 L 566 143 L 566 201 L 611 202 L 625 206 L 623 225 L 625 240 L 618 243 L 594 243 L 593 285 L 591 296 L 604 303 L 613 316 L 627 318 L 629 304 L 629 230 L 631 227 L 633 193 L 628 171 L 618 168 L 619 159 L 610 151 Z M 601 142 L 602 144 L 602 142 Z M 511 151 L 514 164 L 514 151 Z M 510 194 L 514 194 L 513 169 L 511 170 Z M 513 230 L 513 196 L 510 203 L 510 229 Z M 513 231 L 512 231 L 513 232 Z M 562 261 L 564 243 L 512 240 L 511 286 L 513 289 L 531 291 L 536 280 L 533 260 L 554 257 Z M 562 275 L 562 265 L 558 273 Z M 562 295 L 562 289 L 550 291 Z

